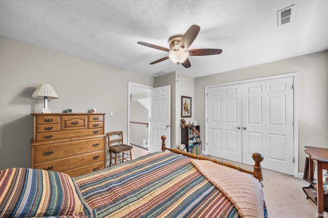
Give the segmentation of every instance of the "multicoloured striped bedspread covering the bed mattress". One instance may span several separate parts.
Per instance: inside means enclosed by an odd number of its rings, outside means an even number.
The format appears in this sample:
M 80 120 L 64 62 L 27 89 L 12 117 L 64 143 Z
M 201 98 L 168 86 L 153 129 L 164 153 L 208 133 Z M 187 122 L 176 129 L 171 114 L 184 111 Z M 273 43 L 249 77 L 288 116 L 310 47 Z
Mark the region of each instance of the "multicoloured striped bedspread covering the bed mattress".
M 158 152 L 75 178 L 97 217 L 239 217 L 189 158 Z

